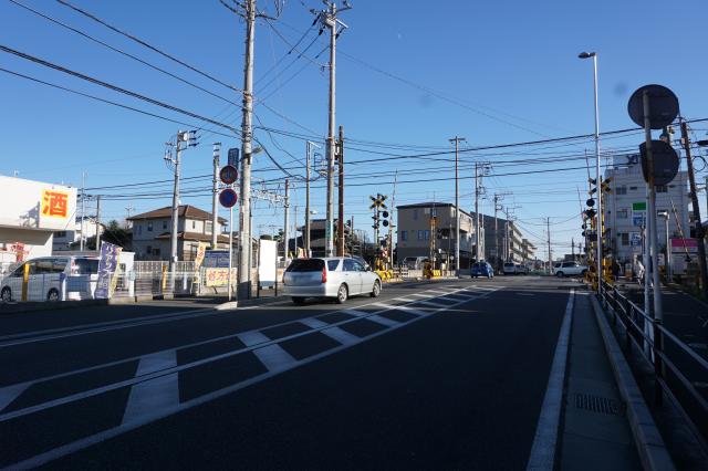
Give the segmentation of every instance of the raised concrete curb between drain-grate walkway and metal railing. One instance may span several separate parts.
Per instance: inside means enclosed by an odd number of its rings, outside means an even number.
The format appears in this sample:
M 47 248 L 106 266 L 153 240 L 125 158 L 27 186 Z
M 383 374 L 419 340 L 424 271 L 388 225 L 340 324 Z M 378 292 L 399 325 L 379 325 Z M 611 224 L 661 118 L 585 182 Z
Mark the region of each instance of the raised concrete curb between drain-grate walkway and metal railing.
M 629 365 L 607 323 L 605 312 L 594 295 L 590 297 L 597 325 L 600 326 L 600 333 L 605 344 L 605 352 L 610 358 L 610 366 L 612 367 L 615 381 L 617 381 L 620 395 L 627 405 L 627 419 L 629 420 L 629 428 L 634 436 L 634 442 L 637 447 L 642 465 L 645 470 L 675 470 L 676 468 L 674 467 L 671 457 L 654 422 L 652 412 L 649 412 L 649 408 L 644 401 L 644 397 L 634 379 Z

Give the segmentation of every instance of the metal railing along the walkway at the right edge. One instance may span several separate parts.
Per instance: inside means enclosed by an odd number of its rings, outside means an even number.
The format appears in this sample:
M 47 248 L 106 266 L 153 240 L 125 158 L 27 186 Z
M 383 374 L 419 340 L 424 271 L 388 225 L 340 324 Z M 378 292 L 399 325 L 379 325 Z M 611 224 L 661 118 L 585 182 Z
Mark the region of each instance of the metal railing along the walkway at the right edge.
M 654 399 L 660 406 L 666 396 L 686 422 L 708 439 L 708 398 L 696 387 L 708 385 L 708 360 L 669 332 L 660 321 L 623 295 L 616 286 L 603 282 L 602 304 L 611 311 L 613 324 L 624 328 L 627 355 L 636 350 L 654 366 Z

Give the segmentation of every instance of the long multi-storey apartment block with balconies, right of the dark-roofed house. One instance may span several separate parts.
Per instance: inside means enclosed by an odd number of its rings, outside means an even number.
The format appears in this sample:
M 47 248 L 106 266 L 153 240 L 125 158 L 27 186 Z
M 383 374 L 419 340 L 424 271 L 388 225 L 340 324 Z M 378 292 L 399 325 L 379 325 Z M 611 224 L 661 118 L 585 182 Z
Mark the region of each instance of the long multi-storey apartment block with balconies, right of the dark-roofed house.
M 506 261 L 528 264 L 535 260 L 537 247 L 524 238 L 513 220 L 481 214 L 487 260 L 501 270 Z

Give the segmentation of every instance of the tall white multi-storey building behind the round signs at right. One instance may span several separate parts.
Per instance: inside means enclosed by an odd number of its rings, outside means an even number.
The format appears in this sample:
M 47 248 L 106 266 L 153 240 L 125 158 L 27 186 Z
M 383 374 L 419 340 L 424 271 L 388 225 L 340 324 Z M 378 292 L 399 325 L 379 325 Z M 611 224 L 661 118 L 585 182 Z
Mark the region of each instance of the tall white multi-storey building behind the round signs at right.
M 646 216 L 646 182 L 639 155 L 615 156 L 612 168 L 605 170 L 605 178 L 612 178 L 612 192 L 603 193 L 604 244 L 618 262 L 629 262 L 634 255 L 642 253 Z M 681 238 L 681 233 L 683 237 L 689 237 L 688 205 L 688 175 L 685 170 L 679 170 L 668 185 L 656 187 L 659 253 L 666 248 L 667 222 L 669 238 Z

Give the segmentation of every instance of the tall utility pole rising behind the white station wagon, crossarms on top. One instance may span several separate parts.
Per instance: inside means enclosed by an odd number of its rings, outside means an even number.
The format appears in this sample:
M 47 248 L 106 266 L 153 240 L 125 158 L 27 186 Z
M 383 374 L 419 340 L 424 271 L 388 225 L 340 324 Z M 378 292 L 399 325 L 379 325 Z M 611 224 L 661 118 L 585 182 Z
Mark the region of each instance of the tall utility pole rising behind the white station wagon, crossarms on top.
M 334 255 L 334 157 L 336 153 L 334 128 L 335 128 L 335 109 L 336 109 L 336 39 L 347 28 L 336 17 L 337 8 L 334 1 L 325 0 L 327 10 L 322 11 L 319 15 L 322 24 L 330 29 L 330 113 L 329 113 L 329 132 L 327 132 L 327 211 L 325 227 L 325 257 Z M 348 10 L 346 6 L 340 11 Z M 341 28 L 340 28 L 341 27 Z

